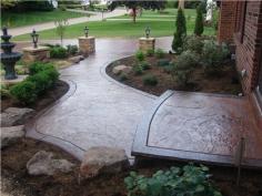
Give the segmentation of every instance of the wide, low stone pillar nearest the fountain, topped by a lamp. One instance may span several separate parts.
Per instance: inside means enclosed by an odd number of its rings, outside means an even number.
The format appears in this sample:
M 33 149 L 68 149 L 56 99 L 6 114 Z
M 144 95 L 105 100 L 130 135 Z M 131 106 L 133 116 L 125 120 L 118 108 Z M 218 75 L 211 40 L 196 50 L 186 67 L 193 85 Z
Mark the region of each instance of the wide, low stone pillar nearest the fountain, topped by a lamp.
M 34 61 L 42 61 L 44 59 L 50 58 L 50 49 L 48 47 L 38 47 L 34 49 L 33 47 L 23 48 L 23 61 L 27 63 L 31 63 Z

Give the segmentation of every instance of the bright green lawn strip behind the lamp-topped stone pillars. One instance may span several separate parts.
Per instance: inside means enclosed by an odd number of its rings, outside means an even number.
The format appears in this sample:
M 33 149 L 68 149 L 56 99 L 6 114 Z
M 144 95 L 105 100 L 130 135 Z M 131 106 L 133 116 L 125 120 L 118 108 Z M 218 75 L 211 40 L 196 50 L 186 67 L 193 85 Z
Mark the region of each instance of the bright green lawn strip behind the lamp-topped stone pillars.
M 165 14 L 160 14 L 157 11 L 144 11 L 143 17 L 138 18 L 137 23 L 132 22 L 130 17 L 123 16 L 112 19 L 120 19 L 120 20 L 108 20 L 108 21 L 95 21 L 95 22 L 88 22 L 88 23 L 80 23 L 73 24 L 68 27 L 66 31 L 66 39 L 75 39 L 80 35 L 83 35 L 83 29 L 85 25 L 90 29 L 90 34 L 97 38 L 105 37 L 105 38 L 139 38 L 144 35 L 145 27 L 151 28 L 151 35 L 152 37 L 167 37 L 172 35 L 175 28 L 175 20 L 174 14 L 177 14 L 177 10 L 168 10 Z M 194 29 L 194 18 L 195 18 L 195 10 L 185 10 L 187 17 L 187 27 L 188 27 L 188 34 L 193 33 Z M 155 16 L 154 18 L 148 18 L 148 16 Z M 167 16 L 159 17 L 159 16 Z M 124 20 L 121 20 L 124 19 Z M 129 20 L 130 19 L 130 20 Z M 56 34 L 54 30 L 46 30 L 41 31 L 40 40 L 54 40 L 59 39 Z M 213 28 L 205 28 L 204 34 L 213 35 L 214 29 Z M 16 37 L 14 40 L 17 41 L 24 41 L 29 40 L 29 34 L 23 34 Z

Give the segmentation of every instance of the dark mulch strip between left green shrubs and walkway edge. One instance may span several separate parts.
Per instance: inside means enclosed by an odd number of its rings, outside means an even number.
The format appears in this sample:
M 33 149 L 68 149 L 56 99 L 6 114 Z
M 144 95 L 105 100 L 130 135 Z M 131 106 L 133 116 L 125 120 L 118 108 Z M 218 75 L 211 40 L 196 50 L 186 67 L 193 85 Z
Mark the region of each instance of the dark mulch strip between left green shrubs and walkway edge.
M 32 105 L 21 105 L 13 99 L 6 97 L 1 100 L 1 112 L 8 107 L 30 107 L 37 112 L 46 109 L 48 105 L 59 100 L 69 90 L 69 85 L 63 81 L 58 81 L 53 89 L 50 89 L 46 94 L 38 99 L 38 101 Z

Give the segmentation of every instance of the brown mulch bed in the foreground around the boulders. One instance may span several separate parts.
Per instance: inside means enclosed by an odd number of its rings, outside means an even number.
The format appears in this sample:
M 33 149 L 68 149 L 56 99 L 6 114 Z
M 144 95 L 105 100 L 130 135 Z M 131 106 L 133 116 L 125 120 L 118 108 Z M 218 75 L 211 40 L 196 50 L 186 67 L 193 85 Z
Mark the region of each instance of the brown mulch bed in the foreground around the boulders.
M 56 158 L 66 158 L 75 164 L 73 172 L 56 174 L 54 176 L 30 176 L 27 173 L 27 162 L 39 151 L 48 151 Z M 180 166 L 174 162 L 152 162 L 142 164 L 132 171 L 151 175 L 158 169 L 167 169 L 170 166 Z M 117 175 L 100 175 L 91 179 L 79 177 L 80 162 L 60 148 L 50 144 L 22 138 L 17 144 L 1 151 L 1 178 L 2 189 L 12 195 L 26 196 L 127 196 L 124 177 L 129 172 Z M 243 171 L 241 187 L 235 186 L 235 168 L 211 167 L 214 185 L 223 196 L 261 196 L 262 172 Z

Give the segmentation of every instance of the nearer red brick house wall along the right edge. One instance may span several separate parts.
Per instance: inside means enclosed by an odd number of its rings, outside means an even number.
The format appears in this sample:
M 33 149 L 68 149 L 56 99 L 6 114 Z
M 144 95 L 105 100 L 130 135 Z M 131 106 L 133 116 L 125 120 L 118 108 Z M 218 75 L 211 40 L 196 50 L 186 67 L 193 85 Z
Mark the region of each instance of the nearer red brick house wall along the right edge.
M 239 16 L 238 12 L 236 16 Z M 242 79 L 243 90 L 246 94 L 251 93 L 258 84 L 261 41 L 262 1 L 246 1 L 243 42 L 236 35 L 234 37 L 238 70 L 246 70 L 248 72 L 248 75 Z

